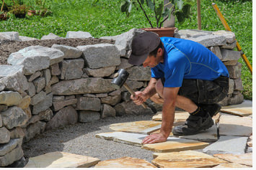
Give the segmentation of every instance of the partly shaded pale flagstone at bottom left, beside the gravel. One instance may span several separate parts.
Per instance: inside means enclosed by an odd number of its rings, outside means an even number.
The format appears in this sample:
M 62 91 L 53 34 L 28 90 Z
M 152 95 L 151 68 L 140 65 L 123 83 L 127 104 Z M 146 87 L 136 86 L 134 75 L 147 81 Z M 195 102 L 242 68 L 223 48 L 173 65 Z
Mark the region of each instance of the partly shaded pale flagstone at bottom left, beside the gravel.
M 29 159 L 25 168 L 88 168 L 100 159 L 55 151 Z

